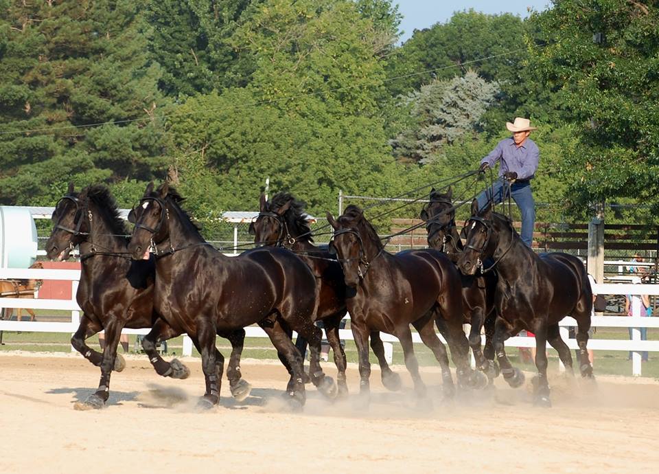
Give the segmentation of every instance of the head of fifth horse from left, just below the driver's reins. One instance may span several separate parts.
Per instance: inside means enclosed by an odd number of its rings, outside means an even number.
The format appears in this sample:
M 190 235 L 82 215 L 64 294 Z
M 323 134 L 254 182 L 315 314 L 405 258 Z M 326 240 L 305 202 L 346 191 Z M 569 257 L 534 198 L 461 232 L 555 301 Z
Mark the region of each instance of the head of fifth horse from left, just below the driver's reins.
M 455 209 L 453 207 L 453 190 L 448 188 L 446 193 L 430 190 L 430 203 L 421 210 L 422 220 L 426 221 L 428 231 L 428 245 L 433 249 L 444 251 L 449 239 L 454 238 L 452 229 L 455 227 Z M 453 242 L 458 250 L 459 242 Z

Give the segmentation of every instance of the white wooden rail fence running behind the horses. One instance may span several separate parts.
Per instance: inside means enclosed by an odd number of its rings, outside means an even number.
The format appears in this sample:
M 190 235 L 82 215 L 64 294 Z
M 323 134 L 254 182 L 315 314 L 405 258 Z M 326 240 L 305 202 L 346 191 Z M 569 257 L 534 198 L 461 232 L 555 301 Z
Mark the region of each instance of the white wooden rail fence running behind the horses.
M 0 279 L 35 278 L 40 280 L 69 280 L 71 281 L 71 300 L 41 300 L 23 299 L 14 297 L 0 297 L 0 308 L 33 308 L 71 311 L 70 322 L 41 322 L 41 321 L 0 321 L 2 331 L 25 331 L 25 332 L 65 332 L 73 334 L 80 324 L 80 307 L 76 302 L 76 291 L 80 271 L 78 270 L 54 270 L 54 269 L 0 269 Z M 597 284 L 593 288 L 594 293 L 599 295 L 659 295 L 659 284 Z M 659 318 L 641 317 L 640 302 L 634 298 L 632 304 L 632 317 L 596 316 L 592 319 L 592 326 L 603 328 L 632 328 L 632 340 L 628 339 L 590 339 L 588 348 L 593 350 L 622 350 L 634 351 L 632 357 L 632 374 L 641 374 L 641 351 L 659 352 L 659 341 L 641 341 L 640 328 L 659 328 Z M 566 317 L 560 324 L 564 341 L 570 349 L 577 348 L 575 339 L 568 339 L 568 327 L 576 326 L 576 321 Z M 259 327 L 250 326 L 245 328 L 247 337 L 267 337 L 266 333 Z M 124 329 L 124 334 L 146 335 L 148 329 Z M 342 339 L 353 339 L 351 330 L 340 330 Z M 392 335 L 382 334 L 385 343 L 397 342 L 398 339 Z M 420 343 L 421 338 L 413 333 L 413 341 Z M 442 339 L 443 341 L 443 339 Z M 444 341 L 446 342 L 446 341 Z M 391 357 L 392 346 L 386 344 L 387 355 Z M 506 341 L 506 346 L 529 348 L 535 346 L 533 337 L 511 337 Z M 73 350 L 73 348 L 71 348 Z M 183 355 L 192 354 L 192 341 L 189 337 L 183 337 Z M 388 357 L 388 358 L 389 358 Z

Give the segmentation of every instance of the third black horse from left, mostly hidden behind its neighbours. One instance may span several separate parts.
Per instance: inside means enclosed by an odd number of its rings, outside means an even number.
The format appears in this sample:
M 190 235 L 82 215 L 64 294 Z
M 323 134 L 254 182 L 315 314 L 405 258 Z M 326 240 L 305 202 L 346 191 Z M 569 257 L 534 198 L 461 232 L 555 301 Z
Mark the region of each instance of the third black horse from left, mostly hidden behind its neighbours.
M 323 321 L 327 341 L 334 351 L 334 363 L 338 370 L 336 377 L 338 394 L 348 393 L 345 382 L 345 352 L 338 337 L 339 324 L 345 317 L 346 286 L 343 270 L 327 247 L 316 247 L 311 236 L 304 203 L 291 194 L 279 192 L 268 202 L 262 194 L 259 216 L 249 226 L 257 244 L 286 247 L 299 256 L 316 276 L 316 300 L 318 301 L 314 321 Z M 307 341 L 298 337 L 295 346 L 303 351 Z M 380 332 L 371 332 L 371 348 L 378 357 L 382 369 L 382 384 L 389 390 L 400 389 L 400 376 L 389 368 L 384 358 L 384 346 Z

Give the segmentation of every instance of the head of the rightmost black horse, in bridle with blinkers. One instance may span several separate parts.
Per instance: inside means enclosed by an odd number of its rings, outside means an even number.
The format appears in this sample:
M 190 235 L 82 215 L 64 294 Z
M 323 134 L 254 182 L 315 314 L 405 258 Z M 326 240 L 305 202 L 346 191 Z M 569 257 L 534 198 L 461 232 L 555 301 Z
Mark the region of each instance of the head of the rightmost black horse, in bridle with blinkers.
M 458 260 L 458 266 L 465 275 L 474 275 L 476 269 L 483 268 L 483 260 L 494 255 L 499 236 L 493 219 L 494 212 L 490 203 L 479 210 L 478 201 L 472 201 L 472 216 L 465 224 L 467 242 Z

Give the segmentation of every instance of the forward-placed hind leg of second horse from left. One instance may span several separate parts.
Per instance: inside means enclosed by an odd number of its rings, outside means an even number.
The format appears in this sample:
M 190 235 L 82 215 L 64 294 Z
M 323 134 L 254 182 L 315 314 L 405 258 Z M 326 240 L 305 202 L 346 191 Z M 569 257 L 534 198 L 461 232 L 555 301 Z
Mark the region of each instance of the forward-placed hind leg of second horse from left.
M 286 365 L 291 368 L 292 380 L 286 387 L 286 394 L 294 407 L 302 407 L 306 400 L 304 391 L 302 357 L 299 350 L 293 345 L 290 335 L 281 326 L 278 317 L 270 316 L 259 321 L 259 326 L 266 332 L 277 353 L 281 354 L 286 360 Z

